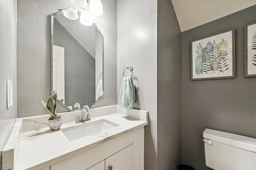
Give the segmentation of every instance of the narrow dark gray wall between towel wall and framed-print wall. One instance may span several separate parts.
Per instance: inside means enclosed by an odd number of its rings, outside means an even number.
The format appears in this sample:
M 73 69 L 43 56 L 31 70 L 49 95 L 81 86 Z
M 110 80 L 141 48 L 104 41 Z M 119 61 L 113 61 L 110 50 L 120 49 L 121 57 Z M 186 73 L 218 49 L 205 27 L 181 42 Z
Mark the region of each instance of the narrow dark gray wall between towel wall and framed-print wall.
M 157 1 L 158 170 L 181 163 L 181 31 L 172 2 Z

